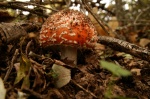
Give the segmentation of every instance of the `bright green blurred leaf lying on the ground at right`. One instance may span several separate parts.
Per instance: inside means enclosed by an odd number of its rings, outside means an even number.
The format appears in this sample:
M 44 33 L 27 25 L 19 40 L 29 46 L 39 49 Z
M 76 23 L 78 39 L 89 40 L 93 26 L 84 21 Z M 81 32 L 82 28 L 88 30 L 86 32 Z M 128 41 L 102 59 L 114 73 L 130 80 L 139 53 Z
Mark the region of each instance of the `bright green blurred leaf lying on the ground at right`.
M 131 75 L 130 71 L 123 69 L 119 65 L 116 65 L 114 63 L 101 60 L 100 64 L 104 69 L 109 70 L 110 72 L 112 72 L 112 74 L 114 74 L 116 76 L 120 77 L 120 76 L 130 76 Z

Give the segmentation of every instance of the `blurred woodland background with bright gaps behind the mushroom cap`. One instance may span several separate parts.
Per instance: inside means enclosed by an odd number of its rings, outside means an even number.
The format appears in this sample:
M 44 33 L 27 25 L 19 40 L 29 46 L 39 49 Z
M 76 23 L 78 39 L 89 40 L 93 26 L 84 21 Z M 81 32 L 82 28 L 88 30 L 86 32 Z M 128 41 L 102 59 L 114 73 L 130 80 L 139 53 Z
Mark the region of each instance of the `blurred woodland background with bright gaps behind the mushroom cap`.
M 149 40 L 150 0 L 0 0 L 0 22 L 28 20 L 42 23 L 49 15 L 69 8 L 85 13 L 99 34 L 107 35 L 85 9 L 83 1 L 106 29 L 117 32 L 120 39 L 138 44 L 141 38 Z

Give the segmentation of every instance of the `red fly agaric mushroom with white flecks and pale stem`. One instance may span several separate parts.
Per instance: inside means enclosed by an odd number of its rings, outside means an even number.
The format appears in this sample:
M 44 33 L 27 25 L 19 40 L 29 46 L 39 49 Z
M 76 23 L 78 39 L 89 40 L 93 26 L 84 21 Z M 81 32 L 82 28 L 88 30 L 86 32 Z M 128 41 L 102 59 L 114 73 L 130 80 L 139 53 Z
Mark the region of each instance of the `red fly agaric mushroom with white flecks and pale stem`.
M 42 25 L 40 44 L 60 45 L 61 59 L 77 64 L 77 48 L 93 48 L 97 31 L 91 20 L 82 12 L 65 9 L 51 15 Z

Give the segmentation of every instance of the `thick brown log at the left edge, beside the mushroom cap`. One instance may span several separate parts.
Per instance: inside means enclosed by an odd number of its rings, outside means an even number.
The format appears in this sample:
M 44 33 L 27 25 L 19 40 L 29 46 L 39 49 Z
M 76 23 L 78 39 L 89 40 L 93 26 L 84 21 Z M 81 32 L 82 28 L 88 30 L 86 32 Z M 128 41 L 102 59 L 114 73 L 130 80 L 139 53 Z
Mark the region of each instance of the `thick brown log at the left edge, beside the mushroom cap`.
M 38 23 L 0 23 L 0 42 L 9 44 L 25 36 L 27 32 L 39 30 L 40 26 Z

